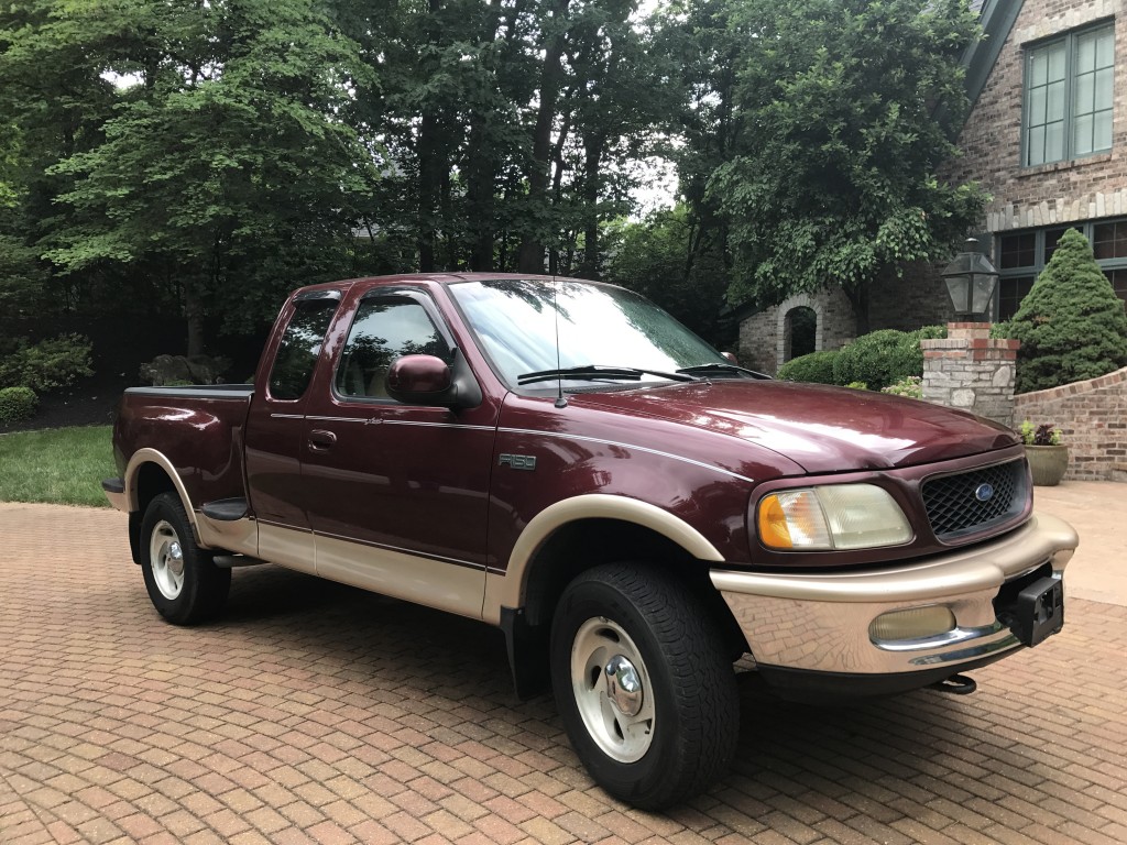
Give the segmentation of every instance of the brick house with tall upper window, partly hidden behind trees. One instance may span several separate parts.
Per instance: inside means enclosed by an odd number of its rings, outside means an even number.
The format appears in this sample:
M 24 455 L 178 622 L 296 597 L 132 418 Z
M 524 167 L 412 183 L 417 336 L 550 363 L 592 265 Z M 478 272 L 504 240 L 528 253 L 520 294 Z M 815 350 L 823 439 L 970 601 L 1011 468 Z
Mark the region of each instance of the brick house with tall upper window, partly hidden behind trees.
M 973 104 L 950 163 L 993 199 L 975 233 L 1001 277 L 992 317 L 1012 317 L 1068 228 L 1092 241 L 1127 300 L 1127 0 L 973 0 L 986 37 L 967 51 Z M 938 267 L 876 279 L 867 330 L 946 322 Z M 774 373 L 792 357 L 858 333 L 840 290 L 791 297 L 740 319 L 739 354 Z M 862 329 L 863 330 L 863 329 Z

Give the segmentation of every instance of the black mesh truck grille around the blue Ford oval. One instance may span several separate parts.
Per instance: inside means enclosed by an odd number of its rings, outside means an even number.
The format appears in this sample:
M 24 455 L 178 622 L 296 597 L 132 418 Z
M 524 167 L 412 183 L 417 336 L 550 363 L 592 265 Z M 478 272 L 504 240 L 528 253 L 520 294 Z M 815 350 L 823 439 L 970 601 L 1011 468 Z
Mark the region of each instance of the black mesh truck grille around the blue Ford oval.
M 986 501 L 978 496 L 984 484 L 993 489 Z M 1021 514 L 1028 499 L 1029 486 L 1021 460 L 929 479 L 923 484 L 923 504 L 931 528 L 944 541 L 1004 523 Z

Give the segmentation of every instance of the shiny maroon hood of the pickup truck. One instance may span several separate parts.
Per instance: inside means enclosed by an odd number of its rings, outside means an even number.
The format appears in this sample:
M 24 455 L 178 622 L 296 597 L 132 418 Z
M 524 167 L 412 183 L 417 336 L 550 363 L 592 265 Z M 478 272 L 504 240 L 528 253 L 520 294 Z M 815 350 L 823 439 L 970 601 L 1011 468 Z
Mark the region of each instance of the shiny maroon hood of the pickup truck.
M 809 473 L 909 466 L 1019 442 L 1009 428 L 964 411 L 822 384 L 718 380 L 579 393 L 571 401 L 738 437 Z

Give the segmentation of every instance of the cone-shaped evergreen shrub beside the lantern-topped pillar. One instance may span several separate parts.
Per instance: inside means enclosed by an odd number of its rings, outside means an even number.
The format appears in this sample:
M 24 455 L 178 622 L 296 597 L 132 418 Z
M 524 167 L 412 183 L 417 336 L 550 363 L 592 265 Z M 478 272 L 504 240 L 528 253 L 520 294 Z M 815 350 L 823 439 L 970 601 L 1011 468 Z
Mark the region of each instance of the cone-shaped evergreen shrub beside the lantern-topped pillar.
M 1127 314 L 1092 247 L 1070 229 L 1010 321 L 1017 391 L 1056 388 L 1127 365 Z

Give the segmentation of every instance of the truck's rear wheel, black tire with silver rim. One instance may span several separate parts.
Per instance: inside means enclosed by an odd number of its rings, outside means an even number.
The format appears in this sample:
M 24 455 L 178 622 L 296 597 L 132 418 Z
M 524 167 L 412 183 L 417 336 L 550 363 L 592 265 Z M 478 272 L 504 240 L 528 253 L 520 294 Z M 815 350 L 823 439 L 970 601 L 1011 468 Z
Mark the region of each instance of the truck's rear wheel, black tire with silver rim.
M 141 570 L 153 606 L 169 622 L 192 625 L 223 610 L 231 570 L 215 566 L 196 544 L 176 493 L 149 502 L 141 522 Z

